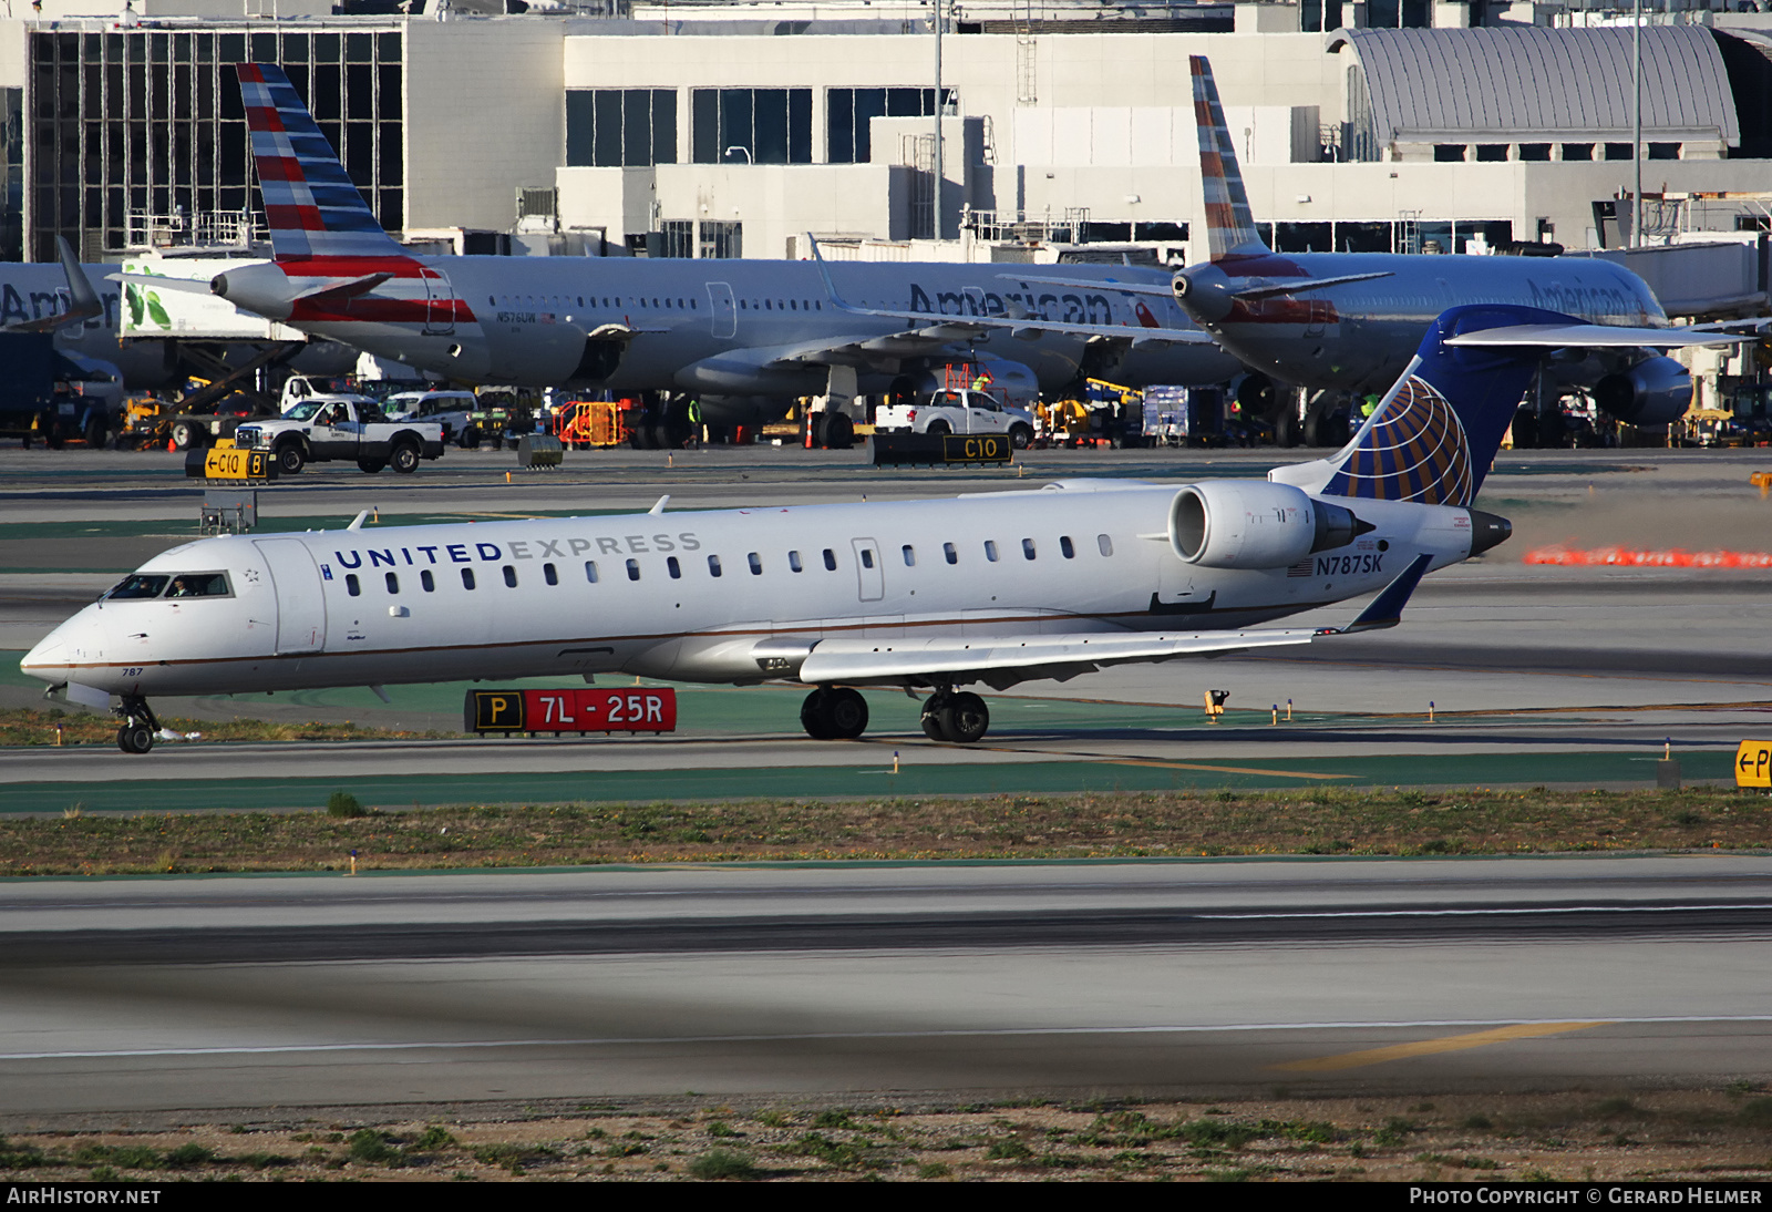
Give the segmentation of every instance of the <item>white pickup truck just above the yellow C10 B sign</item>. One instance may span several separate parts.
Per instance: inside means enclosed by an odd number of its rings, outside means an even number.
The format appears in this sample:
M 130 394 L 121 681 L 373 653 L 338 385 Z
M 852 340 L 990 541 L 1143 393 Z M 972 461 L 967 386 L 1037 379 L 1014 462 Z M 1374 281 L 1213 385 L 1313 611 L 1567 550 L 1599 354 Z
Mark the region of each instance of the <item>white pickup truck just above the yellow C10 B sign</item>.
M 370 475 L 390 466 L 409 475 L 422 459 L 443 457 L 443 427 L 390 422 L 370 399 L 335 395 L 303 400 L 276 420 L 246 422 L 234 431 L 234 445 L 269 450 L 284 475 L 331 459 L 356 459 Z

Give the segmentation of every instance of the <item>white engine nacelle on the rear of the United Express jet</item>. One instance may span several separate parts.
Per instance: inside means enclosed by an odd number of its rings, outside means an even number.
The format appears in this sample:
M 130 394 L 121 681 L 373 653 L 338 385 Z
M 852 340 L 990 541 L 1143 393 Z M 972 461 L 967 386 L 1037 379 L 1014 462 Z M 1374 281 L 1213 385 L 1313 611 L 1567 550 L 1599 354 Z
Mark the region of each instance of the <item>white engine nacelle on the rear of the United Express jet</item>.
M 1170 546 L 1209 569 L 1283 569 L 1373 530 L 1290 484 L 1203 480 L 1170 503 Z

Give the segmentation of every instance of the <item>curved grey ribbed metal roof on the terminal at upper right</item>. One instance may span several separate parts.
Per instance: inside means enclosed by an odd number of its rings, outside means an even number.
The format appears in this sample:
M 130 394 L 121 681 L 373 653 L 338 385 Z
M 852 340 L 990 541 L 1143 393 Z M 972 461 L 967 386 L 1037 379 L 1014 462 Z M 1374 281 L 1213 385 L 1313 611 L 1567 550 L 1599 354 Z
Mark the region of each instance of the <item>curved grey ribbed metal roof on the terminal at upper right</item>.
M 1336 30 L 1389 142 L 1630 140 L 1630 28 Z M 1644 140 L 1740 144 L 1710 30 L 1643 27 Z

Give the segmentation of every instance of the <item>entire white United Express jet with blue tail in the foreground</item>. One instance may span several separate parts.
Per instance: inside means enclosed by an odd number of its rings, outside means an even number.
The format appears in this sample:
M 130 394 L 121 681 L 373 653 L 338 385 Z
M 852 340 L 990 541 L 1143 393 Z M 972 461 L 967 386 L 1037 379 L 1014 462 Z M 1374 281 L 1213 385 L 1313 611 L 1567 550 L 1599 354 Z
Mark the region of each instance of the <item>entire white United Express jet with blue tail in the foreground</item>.
M 1510 533 L 1471 503 L 1533 356 L 1485 333 L 1568 322 L 1446 312 L 1343 450 L 1267 480 L 202 539 L 21 668 L 69 702 L 117 696 L 129 753 L 156 695 L 562 673 L 801 682 L 819 739 L 867 728 L 858 686 L 925 689 L 930 737 L 978 741 L 968 686 L 1395 625 L 1425 572 Z M 1373 590 L 1333 633 L 1258 625 Z

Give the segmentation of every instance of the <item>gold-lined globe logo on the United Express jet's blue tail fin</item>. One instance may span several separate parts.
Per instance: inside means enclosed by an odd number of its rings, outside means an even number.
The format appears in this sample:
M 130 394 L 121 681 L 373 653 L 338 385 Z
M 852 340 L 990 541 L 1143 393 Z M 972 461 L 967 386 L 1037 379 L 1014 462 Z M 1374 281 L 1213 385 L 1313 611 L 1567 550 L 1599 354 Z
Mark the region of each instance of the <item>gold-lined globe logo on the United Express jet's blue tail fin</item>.
M 1324 491 L 1380 501 L 1469 505 L 1476 482 L 1464 423 L 1444 395 L 1419 376 L 1409 376 L 1356 436 Z

